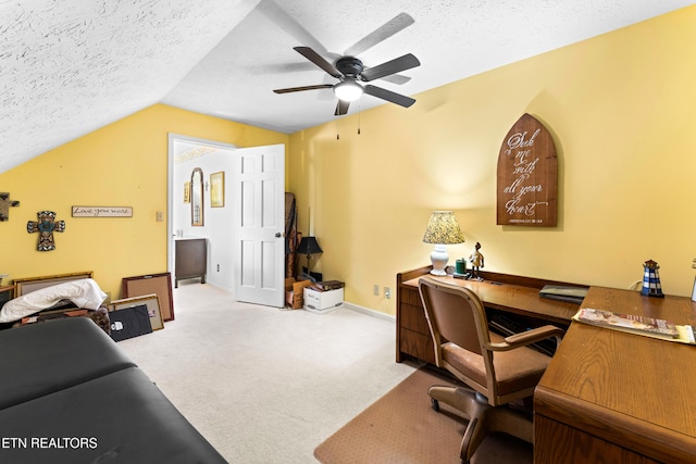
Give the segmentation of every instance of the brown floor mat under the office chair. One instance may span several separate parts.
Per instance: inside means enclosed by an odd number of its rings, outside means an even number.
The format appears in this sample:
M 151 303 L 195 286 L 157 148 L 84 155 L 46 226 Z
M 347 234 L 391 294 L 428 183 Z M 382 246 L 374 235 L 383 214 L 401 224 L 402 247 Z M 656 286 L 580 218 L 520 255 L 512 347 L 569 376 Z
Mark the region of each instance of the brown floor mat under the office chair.
M 455 381 L 430 368 L 420 368 L 370 407 L 352 418 L 314 450 L 323 464 L 460 463 L 459 446 L 467 421 L 440 403 L 431 407 L 427 389 Z M 472 464 L 526 464 L 532 446 L 508 435 L 488 436 Z

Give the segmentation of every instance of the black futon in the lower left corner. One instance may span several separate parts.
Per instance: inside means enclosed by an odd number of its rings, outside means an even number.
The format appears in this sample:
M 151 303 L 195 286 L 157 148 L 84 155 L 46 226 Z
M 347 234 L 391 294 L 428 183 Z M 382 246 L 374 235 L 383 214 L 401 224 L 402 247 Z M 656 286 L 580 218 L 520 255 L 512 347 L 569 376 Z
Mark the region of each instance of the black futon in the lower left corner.
M 84 317 L 0 331 L 1 463 L 225 463 Z

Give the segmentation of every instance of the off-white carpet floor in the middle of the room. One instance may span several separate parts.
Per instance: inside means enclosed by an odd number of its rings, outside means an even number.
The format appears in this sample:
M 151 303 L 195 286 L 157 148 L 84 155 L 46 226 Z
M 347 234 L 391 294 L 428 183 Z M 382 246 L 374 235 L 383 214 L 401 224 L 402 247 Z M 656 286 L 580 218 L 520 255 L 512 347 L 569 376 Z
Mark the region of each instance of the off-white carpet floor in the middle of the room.
M 176 318 L 119 346 L 233 464 L 316 464 L 318 444 L 418 367 L 394 361 L 394 321 L 238 302 L 198 280 Z

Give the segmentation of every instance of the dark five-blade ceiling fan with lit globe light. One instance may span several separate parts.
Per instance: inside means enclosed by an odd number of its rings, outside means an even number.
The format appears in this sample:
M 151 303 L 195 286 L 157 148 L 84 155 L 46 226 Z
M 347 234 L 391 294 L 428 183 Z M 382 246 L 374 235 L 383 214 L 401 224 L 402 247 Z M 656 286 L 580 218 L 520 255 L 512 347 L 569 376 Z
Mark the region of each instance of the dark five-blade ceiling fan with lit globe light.
M 391 74 L 400 73 L 401 71 L 420 66 L 421 62 L 418 61 L 418 59 L 411 53 L 407 53 L 402 57 L 396 58 L 391 61 L 387 61 L 377 66 L 365 68 L 365 66 L 362 64 L 362 61 L 360 61 L 356 57 L 341 57 L 336 60 L 335 64 L 332 64 L 310 47 L 295 47 L 294 50 L 300 53 L 302 57 L 307 58 L 316 66 L 324 70 L 331 76 L 339 79 L 339 81 L 336 84 L 320 84 L 315 86 L 276 89 L 273 90 L 275 93 L 333 89 L 334 93 L 338 98 L 338 104 L 336 104 L 336 111 L 334 112 L 336 116 L 348 113 L 348 106 L 350 105 L 350 102 L 359 99 L 362 93 L 368 93 L 405 108 L 409 108 L 410 105 L 415 103 L 415 100 L 410 97 L 406 97 L 400 93 L 393 92 L 391 90 L 373 86 L 371 84 L 360 84 L 369 83 L 389 76 Z

